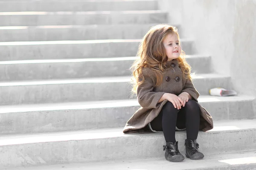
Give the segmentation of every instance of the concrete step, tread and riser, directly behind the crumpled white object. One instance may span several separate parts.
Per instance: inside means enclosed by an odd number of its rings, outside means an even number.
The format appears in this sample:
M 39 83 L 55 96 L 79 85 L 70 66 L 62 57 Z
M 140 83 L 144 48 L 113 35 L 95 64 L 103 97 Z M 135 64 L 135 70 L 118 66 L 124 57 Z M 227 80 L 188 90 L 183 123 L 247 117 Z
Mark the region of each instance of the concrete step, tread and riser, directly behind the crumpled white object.
M 52 102 L 81 102 L 131 98 L 131 77 L 96 77 L 23 82 L 1 82 L 1 105 Z M 195 87 L 201 95 L 210 88 L 230 88 L 230 77 L 218 74 L 198 74 Z

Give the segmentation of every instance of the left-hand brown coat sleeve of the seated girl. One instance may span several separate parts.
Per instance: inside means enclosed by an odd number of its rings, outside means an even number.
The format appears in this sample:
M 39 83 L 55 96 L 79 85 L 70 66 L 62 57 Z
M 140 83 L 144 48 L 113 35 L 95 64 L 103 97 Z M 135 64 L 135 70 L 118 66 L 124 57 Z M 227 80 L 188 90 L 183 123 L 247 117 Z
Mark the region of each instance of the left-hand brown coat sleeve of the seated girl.
M 159 99 L 163 96 L 165 92 L 154 92 L 154 82 L 151 77 L 153 74 L 149 74 L 147 70 L 143 70 L 143 76 L 145 78 L 144 82 L 138 86 L 137 88 L 137 97 L 138 102 L 140 103 L 141 107 L 143 108 L 157 108 L 157 103 Z

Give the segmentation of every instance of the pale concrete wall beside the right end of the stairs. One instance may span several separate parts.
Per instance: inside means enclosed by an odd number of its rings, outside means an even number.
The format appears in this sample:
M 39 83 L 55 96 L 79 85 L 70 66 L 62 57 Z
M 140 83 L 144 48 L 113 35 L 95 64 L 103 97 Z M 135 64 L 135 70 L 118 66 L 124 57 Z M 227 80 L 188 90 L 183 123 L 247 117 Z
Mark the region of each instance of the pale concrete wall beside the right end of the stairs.
M 215 72 L 230 75 L 239 94 L 256 96 L 256 0 L 159 0 L 159 7 L 198 54 L 212 57 Z

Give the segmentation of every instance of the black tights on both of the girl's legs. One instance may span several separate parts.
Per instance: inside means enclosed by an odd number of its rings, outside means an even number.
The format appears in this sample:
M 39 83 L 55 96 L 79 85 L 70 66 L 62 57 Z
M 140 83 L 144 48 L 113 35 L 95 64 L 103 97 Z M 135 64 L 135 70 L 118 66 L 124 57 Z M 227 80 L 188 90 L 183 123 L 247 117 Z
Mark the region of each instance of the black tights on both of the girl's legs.
M 195 140 L 198 137 L 200 125 L 198 103 L 189 100 L 184 107 L 181 106 L 181 109 L 177 110 L 171 102 L 166 102 L 159 115 L 150 124 L 153 130 L 163 131 L 166 142 L 176 142 L 176 126 L 178 128 L 186 127 L 187 139 Z

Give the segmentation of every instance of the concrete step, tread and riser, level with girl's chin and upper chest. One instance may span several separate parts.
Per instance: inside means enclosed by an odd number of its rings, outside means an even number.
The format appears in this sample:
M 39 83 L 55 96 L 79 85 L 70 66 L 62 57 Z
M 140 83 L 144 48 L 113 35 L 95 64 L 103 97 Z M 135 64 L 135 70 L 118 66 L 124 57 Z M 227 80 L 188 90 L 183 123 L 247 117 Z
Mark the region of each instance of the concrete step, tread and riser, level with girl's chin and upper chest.
M 0 81 L 69 79 L 102 76 L 129 76 L 137 57 L 91 59 L 45 59 L 0 62 Z M 187 56 L 196 73 L 210 72 L 209 56 Z M 95 71 L 97 70 L 97 71 Z

